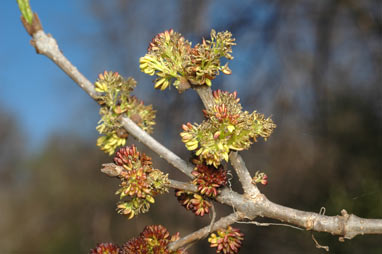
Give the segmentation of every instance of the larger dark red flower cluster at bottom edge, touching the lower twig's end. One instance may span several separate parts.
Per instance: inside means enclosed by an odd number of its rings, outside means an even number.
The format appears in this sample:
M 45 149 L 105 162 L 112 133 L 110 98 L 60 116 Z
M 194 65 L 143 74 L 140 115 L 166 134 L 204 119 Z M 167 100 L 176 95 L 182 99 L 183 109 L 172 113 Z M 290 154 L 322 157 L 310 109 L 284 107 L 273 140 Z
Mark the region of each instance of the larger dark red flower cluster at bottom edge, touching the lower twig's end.
M 122 246 L 122 254 L 180 254 L 182 249 L 170 251 L 168 244 L 179 239 L 179 233 L 170 237 L 170 233 L 162 225 L 146 226 L 137 237 Z

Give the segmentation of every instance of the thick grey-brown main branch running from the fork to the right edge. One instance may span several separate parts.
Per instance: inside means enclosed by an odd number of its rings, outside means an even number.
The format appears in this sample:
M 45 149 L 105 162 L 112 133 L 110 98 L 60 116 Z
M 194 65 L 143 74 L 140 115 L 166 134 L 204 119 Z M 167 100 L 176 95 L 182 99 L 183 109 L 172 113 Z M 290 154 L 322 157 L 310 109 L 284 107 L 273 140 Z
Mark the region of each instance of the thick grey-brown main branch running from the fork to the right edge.
M 326 216 L 275 204 L 263 194 L 259 194 L 253 199 L 227 188 L 221 192 L 217 200 L 234 207 L 250 220 L 257 216 L 266 217 L 306 230 L 338 235 L 345 239 L 352 239 L 364 234 L 382 234 L 381 219 L 360 218 L 354 214 L 348 214 L 345 210 L 341 211 L 341 215 Z

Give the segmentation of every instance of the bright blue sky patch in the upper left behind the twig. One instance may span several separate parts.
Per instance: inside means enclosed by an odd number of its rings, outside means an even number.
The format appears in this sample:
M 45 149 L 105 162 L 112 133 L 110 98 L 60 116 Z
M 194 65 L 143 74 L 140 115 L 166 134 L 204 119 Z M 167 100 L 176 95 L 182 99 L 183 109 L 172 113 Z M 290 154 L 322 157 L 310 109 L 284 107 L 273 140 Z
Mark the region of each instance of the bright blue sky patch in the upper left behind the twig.
M 65 55 L 89 78 L 94 71 L 91 52 L 83 40 L 96 31 L 86 1 L 31 1 L 43 28 L 58 40 Z M 40 146 L 53 131 L 95 134 L 97 107 L 58 67 L 37 55 L 20 22 L 16 0 L 1 1 L 0 107 L 21 125 L 31 148 Z M 92 75 L 92 76 L 90 76 Z M 76 121 L 81 119 L 82 121 Z M 89 132 L 90 131 L 90 132 Z

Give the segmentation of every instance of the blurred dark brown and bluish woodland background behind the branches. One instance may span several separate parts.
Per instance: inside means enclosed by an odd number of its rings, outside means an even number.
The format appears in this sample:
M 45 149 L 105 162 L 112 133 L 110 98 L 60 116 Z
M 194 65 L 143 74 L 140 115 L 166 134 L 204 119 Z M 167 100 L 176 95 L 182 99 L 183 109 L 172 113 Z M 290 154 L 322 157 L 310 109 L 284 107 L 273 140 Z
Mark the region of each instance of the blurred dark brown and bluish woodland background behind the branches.
M 218 77 L 213 89 L 236 90 L 244 108 L 272 115 L 278 125 L 267 142 L 242 152 L 252 173 L 268 174 L 269 184 L 261 190 L 270 200 L 297 209 L 319 212 L 325 207 L 327 215 L 346 209 L 361 217 L 382 218 L 380 1 L 87 3 L 99 33 L 94 38 L 75 36 L 94 52 L 90 78 L 94 80 L 105 65 L 133 76 L 138 81 L 135 94 L 158 110 L 154 137 L 160 142 L 188 158 L 180 126 L 201 121 L 202 104 L 193 91 L 179 95 L 175 89 L 154 90 L 152 78 L 139 72 L 139 57 L 151 38 L 165 29 L 173 28 L 194 44 L 208 37 L 212 28 L 229 30 L 237 40 L 230 63 L 233 74 Z M 97 106 L 83 110 L 95 128 Z M 73 122 L 78 128 L 81 117 Z M 95 146 L 96 135 L 78 133 L 70 128 L 57 131 L 39 151 L 28 153 L 23 126 L 11 112 L 0 111 L 2 253 L 87 253 L 97 242 L 123 243 L 147 224 L 163 224 L 183 236 L 208 224 L 208 216 L 200 219 L 178 205 L 172 191 L 159 197 L 148 214 L 133 220 L 117 215 L 118 181 L 99 171 L 111 158 Z M 138 147 L 171 178 L 186 180 L 145 147 Z M 241 191 L 235 183 L 233 188 Z M 218 216 L 232 211 L 217 208 Z M 237 226 L 245 233 L 242 254 L 324 253 L 315 248 L 311 232 Z M 340 243 L 328 234 L 314 235 L 331 253 L 382 252 L 380 236 Z M 190 253 L 214 252 L 206 240 L 190 249 Z

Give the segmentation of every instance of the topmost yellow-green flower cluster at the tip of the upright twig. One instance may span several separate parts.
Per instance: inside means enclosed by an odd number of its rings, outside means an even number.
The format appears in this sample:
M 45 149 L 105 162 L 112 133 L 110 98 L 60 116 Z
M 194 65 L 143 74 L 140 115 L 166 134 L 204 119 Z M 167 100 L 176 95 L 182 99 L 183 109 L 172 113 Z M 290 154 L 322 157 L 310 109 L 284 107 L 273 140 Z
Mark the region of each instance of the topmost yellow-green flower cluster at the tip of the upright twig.
M 156 75 L 155 88 L 164 90 L 171 83 L 180 92 L 192 85 L 211 86 L 211 80 L 219 72 L 231 74 L 228 64 L 220 59 L 233 59 L 232 46 L 235 39 L 228 31 L 211 31 L 210 40 L 192 47 L 191 43 L 172 29 L 156 35 L 148 52 L 140 58 L 141 70 L 151 76 Z

